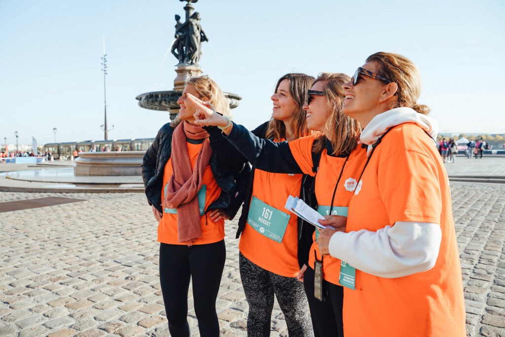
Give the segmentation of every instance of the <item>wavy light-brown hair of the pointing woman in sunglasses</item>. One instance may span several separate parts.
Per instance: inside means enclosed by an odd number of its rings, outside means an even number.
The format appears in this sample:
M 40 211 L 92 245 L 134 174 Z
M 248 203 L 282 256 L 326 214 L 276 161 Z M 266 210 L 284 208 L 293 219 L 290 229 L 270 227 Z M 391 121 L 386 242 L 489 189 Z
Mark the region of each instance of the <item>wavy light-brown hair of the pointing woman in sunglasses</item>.
M 345 98 L 343 85 L 350 81 L 350 77 L 343 73 L 320 73 L 314 84 L 326 82 L 326 100 L 331 115 L 326 120 L 326 129 L 331 132 L 332 155 L 348 155 L 356 148 L 361 131 L 360 123 L 342 113 L 342 103 Z M 313 84 L 313 85 L 314 85 Z M 321 134 L 312 146 L 312 151 L 321 153 L 326 148 L 327 137 Z

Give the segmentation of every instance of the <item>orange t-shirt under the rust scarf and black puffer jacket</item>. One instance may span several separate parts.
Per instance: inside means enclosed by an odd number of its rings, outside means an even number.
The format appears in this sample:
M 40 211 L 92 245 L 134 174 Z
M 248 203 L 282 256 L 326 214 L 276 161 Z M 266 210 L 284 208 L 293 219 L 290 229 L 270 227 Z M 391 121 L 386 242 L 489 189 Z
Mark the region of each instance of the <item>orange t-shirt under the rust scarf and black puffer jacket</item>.
M 202 144 L 191 144 L 186 142 L 186 146 L 188 149 L 189 162 L 194 168 Z M 162 200 L 165 197 L 165 186 L 167 185 L 168 179 L 172 176 L 172 172 L 172 159 L 169 159 L 163 173 Z M 218 199 L 221 194 L 221 188 L 214 179 L 210 165 L 205 168 L 203 184 L 206 185 L 205 210 L 207 210 L 209 205 Z M 200 217 L 200 223 L 201 237 L 196 239 L 193 245 L 213 244 L 224 239 L 223 219 L 214 222 L 209 215 L 204 214 Z M 180 243 L 177 238 L 177 214 L 163 212 L 163 217 L 158 225 L 158 241 L 170 245 L 185 245 L 184 243 Z

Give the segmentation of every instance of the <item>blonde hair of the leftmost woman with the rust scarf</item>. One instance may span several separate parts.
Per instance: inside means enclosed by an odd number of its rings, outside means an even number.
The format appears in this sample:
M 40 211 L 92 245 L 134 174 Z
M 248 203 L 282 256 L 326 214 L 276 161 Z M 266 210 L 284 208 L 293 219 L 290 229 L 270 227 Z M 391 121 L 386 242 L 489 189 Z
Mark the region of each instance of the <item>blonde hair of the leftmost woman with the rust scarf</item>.
M 209 75 L 193 76 L 189 78 L 187 84 L 191 84 L 194 87 L 196 92 L 200 95 L 200 97 L 198 97 L 199 99 L 207 97 L 217 112 L 223 114 L 224 116 L 228 116 L 230 119 L 232 118 L 228 100 L 224 96 L 219 85 L 217 85 L 217 83 L 210 78 Z M 181 119 L 179 118 L 179 115 L 177 115 L 170 125 L 175 127 L 180 122 Z

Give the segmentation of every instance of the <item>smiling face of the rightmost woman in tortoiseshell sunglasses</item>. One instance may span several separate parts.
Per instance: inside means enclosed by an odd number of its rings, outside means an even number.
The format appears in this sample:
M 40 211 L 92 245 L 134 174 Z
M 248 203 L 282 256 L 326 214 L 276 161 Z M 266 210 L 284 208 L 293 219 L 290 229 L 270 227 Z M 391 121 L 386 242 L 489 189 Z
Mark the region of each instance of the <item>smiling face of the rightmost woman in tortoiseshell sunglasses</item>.
M 367 62 L 362 68 L 374 73 L 379 70 L 376 62 Z M 342 112 L 349 117 L 360 120 L 361 115 L 378 108 L 384 86 L 384 82 L 378 79 L 359 74 L 356 85 L 353 85 L 352 81 L 343 85 L 345 99 Z

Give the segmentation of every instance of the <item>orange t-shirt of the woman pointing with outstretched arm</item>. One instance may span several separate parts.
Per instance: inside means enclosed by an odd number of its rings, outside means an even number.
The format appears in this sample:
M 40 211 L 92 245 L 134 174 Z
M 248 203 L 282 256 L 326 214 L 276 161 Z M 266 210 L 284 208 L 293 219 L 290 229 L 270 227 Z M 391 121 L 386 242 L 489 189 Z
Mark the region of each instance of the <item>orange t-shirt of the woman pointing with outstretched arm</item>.
M 314 175 L 314 173 L 312 173 L 312 145 L 314 139 L 314 137 L 304 137 L 289 143 L 289 148 L 298 166 L 300 166 L 304 173 L 311 175 Z M 316 199 L 319 205 L 330 206 L 333 190 L 337 183 L 338 176 L 342 171 L 342 167 L 343 172 L 337 190 L 335 191 L 333 206 L 347 207 L 349 205 L 354 187 L 357 185 L 356 180 L 359 178 L 361 170 L 365 166 L 366 153 L 365 149 L 358 146 L 357 149 L 350 154 L 346 162 L 346 158 L 329 156 L 327 150 L 323 150 L 315 184 Z M 345 166 L 343 166 L 344 163 Z M 333 211 L 335 212 L 335 208 Z M 337 214 L 340 215 L 340 212 Z M 319 261 L 323 261 L 323 278 L 330 283 L 340 285 L 338 282 L 340 276 L 340 260 L 332 256 L 323 257 L 321 255 L 316 243 L 316 233 L 317 229 L 312 236 L 314 242 L 309 252 L 309 266 L 315 269 L 314 262 L 317 256 Z

